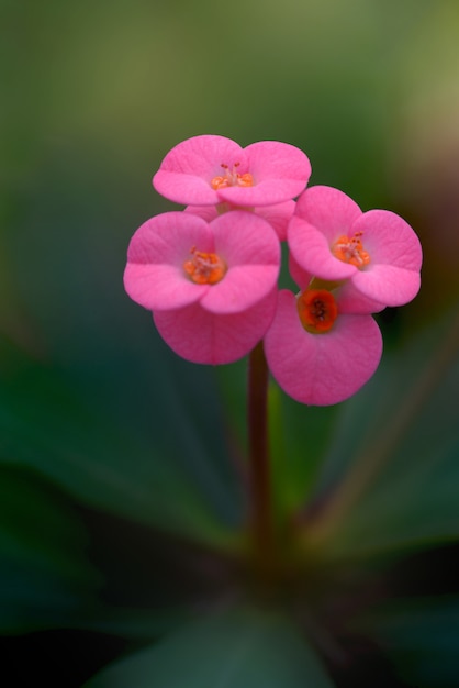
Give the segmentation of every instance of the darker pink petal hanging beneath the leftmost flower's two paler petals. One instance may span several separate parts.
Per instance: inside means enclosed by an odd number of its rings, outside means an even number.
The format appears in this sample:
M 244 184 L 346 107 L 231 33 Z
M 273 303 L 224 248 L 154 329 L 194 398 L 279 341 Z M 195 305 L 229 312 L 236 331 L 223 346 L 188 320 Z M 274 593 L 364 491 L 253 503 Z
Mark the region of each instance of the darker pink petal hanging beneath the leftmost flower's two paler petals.
M 246 356 L 262 339 L 276 309 L 273 289 L 244 313 L 214 314 L 193 303 L 153 314 L 156 328 L 172 351 L 191 363 L 226 364 Z

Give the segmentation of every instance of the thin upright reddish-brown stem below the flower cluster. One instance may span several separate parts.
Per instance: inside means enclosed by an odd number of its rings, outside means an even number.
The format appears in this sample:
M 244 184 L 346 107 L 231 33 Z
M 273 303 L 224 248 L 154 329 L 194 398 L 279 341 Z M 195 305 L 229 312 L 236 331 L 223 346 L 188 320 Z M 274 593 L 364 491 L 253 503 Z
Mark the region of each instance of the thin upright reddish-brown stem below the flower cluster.
M 247 412 L 250 534 L 258 563 L 266 570 L 272 561 L 273 523 L 268 447 L 268 366 L 262 342 L 249 356 Z

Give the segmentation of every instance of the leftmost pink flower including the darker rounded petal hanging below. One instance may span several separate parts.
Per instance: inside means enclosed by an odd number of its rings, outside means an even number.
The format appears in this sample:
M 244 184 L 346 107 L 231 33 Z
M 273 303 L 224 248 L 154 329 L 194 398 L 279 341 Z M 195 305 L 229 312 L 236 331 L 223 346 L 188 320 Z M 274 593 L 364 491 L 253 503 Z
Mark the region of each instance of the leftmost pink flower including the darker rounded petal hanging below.
M 208 223 L 189 212 L 145 222 L 127 251 L 124 286 L 153 311 L 167 344 L 193 363 L 248 354 L 273 318 L 280 245 L 255 213 L 234 210 Z

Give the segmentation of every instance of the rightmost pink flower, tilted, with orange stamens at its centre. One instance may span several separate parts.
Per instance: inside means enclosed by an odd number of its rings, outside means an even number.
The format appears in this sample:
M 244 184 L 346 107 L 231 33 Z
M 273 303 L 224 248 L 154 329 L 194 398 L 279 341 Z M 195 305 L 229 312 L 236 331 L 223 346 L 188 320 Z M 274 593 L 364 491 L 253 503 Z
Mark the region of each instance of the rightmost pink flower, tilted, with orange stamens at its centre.
M 296 263 L 329 281 L 350 279 L 362 295 L 402 306 L 419 290 L 422 248 L 412 228 L 388 210 L 362 212 L 332 187 L 306 189 L 288 229 Z

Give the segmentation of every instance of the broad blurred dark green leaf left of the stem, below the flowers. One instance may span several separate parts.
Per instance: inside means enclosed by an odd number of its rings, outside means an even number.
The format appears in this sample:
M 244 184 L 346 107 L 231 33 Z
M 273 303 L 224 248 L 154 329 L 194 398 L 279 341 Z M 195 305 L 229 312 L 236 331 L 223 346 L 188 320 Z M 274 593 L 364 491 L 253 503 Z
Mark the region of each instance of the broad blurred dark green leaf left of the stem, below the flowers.
M 237 522 L 239 501 L 212 391 L 202 395 L 205 414 L 189 406 L 194 380 L 176 387 L 163 360 L 147 381 L 138 364 L 123 365 L 116 377 L 89 366 L 77 376 L 2 343 L 1 455 L 85 504 L 220 542 Z

